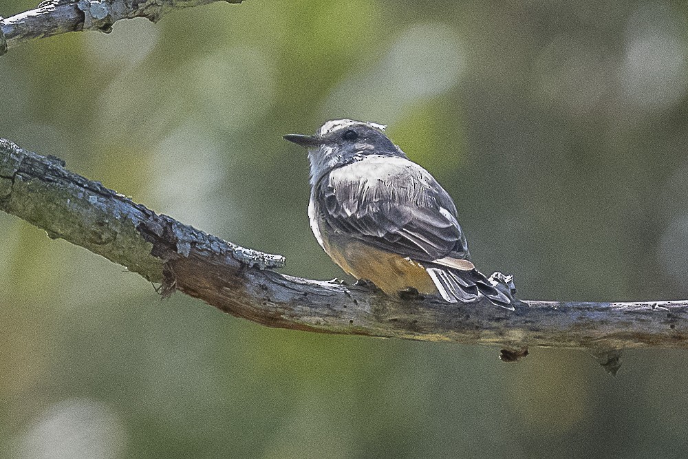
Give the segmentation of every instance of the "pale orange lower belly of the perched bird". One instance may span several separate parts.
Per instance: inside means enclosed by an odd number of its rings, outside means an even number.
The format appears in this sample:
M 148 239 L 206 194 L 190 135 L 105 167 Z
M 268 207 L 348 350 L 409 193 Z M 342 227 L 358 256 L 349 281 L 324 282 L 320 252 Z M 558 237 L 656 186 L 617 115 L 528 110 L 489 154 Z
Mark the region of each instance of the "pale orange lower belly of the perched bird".
M 413 287 L 420 293 L 438 293 L 425 268 L 416 261 L 368 246 L 358 241 L 336 244 L 329 241 L 325 252 L 346 273 L 368 279 L 387 295 Z

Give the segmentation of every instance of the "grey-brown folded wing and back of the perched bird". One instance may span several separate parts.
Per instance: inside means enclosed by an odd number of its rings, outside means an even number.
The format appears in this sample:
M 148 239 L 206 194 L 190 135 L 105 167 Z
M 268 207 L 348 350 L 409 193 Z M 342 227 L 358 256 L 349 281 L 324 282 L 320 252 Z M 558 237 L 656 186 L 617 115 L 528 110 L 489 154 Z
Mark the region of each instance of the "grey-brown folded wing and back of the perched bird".
M 334 169 L 317 186 L 330 236 L 341 233 L 417 261 L 469 259 L 449 194 L 414 162 L 368 156 Z

